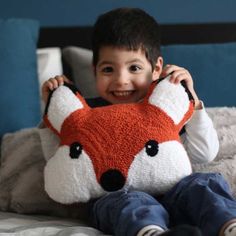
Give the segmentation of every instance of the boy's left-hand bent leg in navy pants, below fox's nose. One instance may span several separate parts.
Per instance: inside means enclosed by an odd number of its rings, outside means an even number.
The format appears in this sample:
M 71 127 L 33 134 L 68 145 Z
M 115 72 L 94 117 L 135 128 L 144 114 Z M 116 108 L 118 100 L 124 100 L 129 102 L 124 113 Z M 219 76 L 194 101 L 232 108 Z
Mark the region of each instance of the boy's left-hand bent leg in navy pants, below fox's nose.
M 144 192 L 120 190 L 95 201 L 91 209 L 96 228 L 116 236 L 134 236 L 145 226 L 168 225 L 168 213 Z

